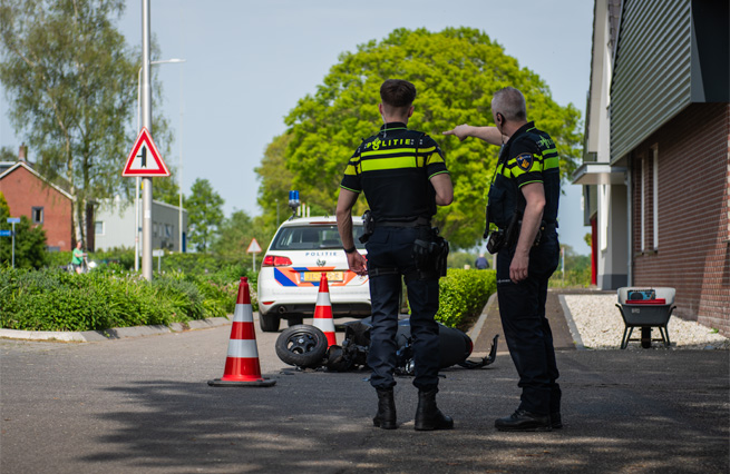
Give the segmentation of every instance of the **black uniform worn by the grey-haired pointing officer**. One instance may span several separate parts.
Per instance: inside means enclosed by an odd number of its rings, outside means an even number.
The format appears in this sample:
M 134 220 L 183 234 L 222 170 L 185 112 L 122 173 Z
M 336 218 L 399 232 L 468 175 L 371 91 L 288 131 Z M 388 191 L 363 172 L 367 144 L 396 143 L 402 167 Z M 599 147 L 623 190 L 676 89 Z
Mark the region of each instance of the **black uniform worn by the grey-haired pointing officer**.
M 561 407 L 553 334 L 545 317 L 547 280 L 559 259 L 555 228 L 561 178 L 555 144 L 549 135 L 535 128 L 534 122 L 520 127 L 499 154 L 489 189 L 489 220 L 505 229 L 514 213 L 522 216 L 526 200 L 519 188 L 531 182 L 542 182 L 545 189 L 539 240 L 529 251 L 527 278 L 517 284 L 509 279 L 517 239 L 499 250 L 497 297 L 505 339 L 523 389 L 518 409 L 548 415 L 559 413 Z

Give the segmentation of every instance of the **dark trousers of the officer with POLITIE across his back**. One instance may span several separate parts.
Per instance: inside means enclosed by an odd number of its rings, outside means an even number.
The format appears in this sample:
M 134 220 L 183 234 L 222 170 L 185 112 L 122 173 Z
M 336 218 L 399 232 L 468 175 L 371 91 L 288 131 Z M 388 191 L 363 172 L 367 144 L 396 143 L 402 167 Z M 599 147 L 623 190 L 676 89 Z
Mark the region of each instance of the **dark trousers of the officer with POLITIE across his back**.
M 413 385 L 422 391 L 438 387 L 439 337 L 438 324 L 434 320 L 438 310 L 438 278 L 418 279 L 415 276 L 411 254 L 418 233 L 418 228 L 377 227 L 366 244 L 372 305 L 368 366 L 372 369 L 370 384 L 376 388 L 396 385 L 396 334 L 403 275 L 411 310 Z M 379 270 L 377 275 L 374 269 Z

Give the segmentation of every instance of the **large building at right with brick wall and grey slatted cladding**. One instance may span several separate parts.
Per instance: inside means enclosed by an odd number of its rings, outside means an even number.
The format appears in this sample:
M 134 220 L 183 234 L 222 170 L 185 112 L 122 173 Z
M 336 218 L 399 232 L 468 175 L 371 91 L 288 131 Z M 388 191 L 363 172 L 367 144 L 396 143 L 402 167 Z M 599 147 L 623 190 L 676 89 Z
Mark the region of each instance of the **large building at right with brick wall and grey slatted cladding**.
M 730 7 L 596 0 L 585 220 L 602 289 L 669 286 L 730 336 Z

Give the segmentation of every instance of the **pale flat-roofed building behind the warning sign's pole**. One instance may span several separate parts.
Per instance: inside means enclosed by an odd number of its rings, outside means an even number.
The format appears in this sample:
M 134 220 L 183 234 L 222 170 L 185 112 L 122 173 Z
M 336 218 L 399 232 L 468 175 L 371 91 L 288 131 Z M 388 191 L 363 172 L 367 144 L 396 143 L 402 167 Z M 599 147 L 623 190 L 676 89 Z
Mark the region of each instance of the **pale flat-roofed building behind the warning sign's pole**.
M 140 209 L 142 209 L 142 203 Z M 97 250 L 109 250 L 118 247 L 134 248 L 135 246 L 135 218 L 140 213 L 135 213 L 134 204 L 124 204 L 117 196 L 115 199 L 107 199 L 99 203 L 96 209 L 94 223 L 94 238 Z M 186 251 L 187 238 L 187 210 L 183 209 L 183 233 L 181 243 L 179 233 L 179 207 L 167 203 L 153 200 L 152 203 L 152 247 L 153 249 L 165 249 L 168 251 Z M 182 244 L 182 245 L 181 245 Z M 142 250 L 142 235 L 139 236 L 139 248 Z

